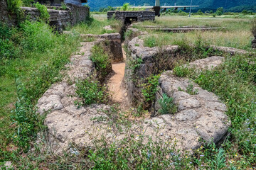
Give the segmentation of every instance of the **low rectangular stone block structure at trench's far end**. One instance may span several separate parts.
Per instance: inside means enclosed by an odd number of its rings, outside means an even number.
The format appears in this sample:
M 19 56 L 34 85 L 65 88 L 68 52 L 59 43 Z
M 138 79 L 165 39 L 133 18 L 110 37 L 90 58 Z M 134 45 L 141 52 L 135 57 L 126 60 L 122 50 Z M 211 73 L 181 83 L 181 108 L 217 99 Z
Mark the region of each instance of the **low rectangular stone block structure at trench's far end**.
M 154 21 L 154 11 L 109 11 L 107 19 L 115 18 L 124 21 L 124 23 L 132 23 L 132 21 Z

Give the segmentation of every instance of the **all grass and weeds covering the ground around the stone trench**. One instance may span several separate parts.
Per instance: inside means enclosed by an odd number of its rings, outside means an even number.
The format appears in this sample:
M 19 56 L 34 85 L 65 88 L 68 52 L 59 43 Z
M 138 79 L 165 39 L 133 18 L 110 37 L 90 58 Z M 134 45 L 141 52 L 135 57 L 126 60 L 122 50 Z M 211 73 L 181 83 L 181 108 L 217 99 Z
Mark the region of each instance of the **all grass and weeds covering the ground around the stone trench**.
M 138 105 L 137 108 L 131 106 L 129 111 L 120 111 L 117 105 L 113 105 L 110 113 L 106 111 L 110 115 L 108 125 L 117 131 L 120 127 L 124 128 L 123 131 L 127 133 L 123 140 L 109 144 L 102 137 L 92 142 L 93 148 L 72 145 L 71 148 L 75 150 L 69 152 L 68 149 L 64 154 L 55 154 L 47 147 L 47 128 L 43 125 L 45 116 L 39 116 L 36 108 L 38 98 L 41 98 L 51 84 L 63 79 L 60 72 L 65 72 L 65 64 L 70 63 L 69 57 L 78 52 L 82 42 L 80 34 L 119 33 L 122 28 L 120 21 L 107 21 L 105 15 L 94 14 L 92 17 L 94 19 L 90 18 L 90 21 L 68 28 L 73 33 L 70 35 L 52 33 L 51 28 L 41 22 L 26 22 L 19 29 L 0 25 L 0 38 L 5 45 L 0 53 L 0 166 L 3 162 L 11 161 L 16 169 L 256 169 L 255 54 L 231 56 L 213 52 L 223 55 L 225 62 L 215 69 L 203 72 L 184 69 L 180 66 L 184 61 L 175 64 L 176 74 L 178 72 L 201 88 L 213 92 L 228 107 L 225 114 L 232 125 L 221 145 L 203 142 L 194 154 L 176 154 L 178 151 L 174 143 L 160 139 L 155 142 L 151 138 L 145 142 L 142 136 L 131 132 L 133 121 L 129 120 L 142 120 L 143 114 L 148 116 L 150 109 Z M 154 22 L 136 23 L 133 27 L 148 32 L 144 38 L 139 36 L 144 39 L 144 46 L 181 45 L 187 47 L 183 50 L 188 50 L 193 56 L 198 55 L 198 58 L 211 57 L 208 56 L 211 52 L 206 49 L 208 45 L 256 52 L 251 48 L 253 16 L 232 17 L 161 16 Z M 105 30 L 105 26 L 111 26 L 112 30 Z M 162 33 L 142 26 L 211 26 L 225 29 Z M 188 47 L 189 45 L 193 46 Z M 186 51 L 183 54 L 186 55 Z M 126 55 L 129 57 L 129 52 Z M 110 64 L 107 57 L 103 47 L 94 46 L 90 60 L 99 61 L 100 64 L 96 63 L 99 64 L 97 69 L 106 69 L 106 65 Z M 142 61 L 133 63 L 134 70 L 140 62 Z M 149 91 L 144 92 L 145 96 L 154 97 L 155 92 L 152 91 L 157 91 L 159 75 L 151 75 L 142 84 L 144 91 L 145 87 L 149 87 Z M 84 102 L 79 103 L 78 108 L 87 106 L 87 101 L 95 96 L 92 103 L 106 103 L 107 95 L 102 97 L 104 102 L 102 98 L 97 101 L 97 97 L 105 95 L 106 91 L 104 88 L 99 89 L 94 79 L 78 82 L 79 91 L 76 93 Z M 97 93 L 94 91 L 95 87 Z M 138 113 L 134 113 L 134 110 Z M 100 123 L 103 120 L 99 118 L 94 121 Z M 38 132 L 41 134 L 39 137 Z M 35 143 L 36 139 L 39 140 L 38 143 Z

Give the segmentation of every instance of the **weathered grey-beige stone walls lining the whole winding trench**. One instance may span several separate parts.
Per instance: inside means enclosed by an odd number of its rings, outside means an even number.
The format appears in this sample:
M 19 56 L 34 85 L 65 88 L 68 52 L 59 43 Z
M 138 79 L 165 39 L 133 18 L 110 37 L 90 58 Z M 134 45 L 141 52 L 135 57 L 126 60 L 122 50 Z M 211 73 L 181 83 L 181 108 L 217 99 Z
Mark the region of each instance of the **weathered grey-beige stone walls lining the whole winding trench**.
M 129 99 L 132 103 L 133 98 L 139 94 L 138 81 L 131 81 L 131 77 L 138 79 L 154 74 L 152 68 L 159 67 L 157 57 L 169 58 L 168 62 L 174 63 L 178 60 L 179 47 L 177 45 L 167 45 L 164 47 L 144 47 L 136 28 L 128 28 L 132 31 L 134 37 L 126 40 L 128 51 L 131 55 L 127 56 L 124 84 L 127 88 Z M 90 60 L 91 49 L 94 45 L 107 40 L 108 53 L 112 62 L 122 61 L 120 55 L 121 35 L 81 35 L 84 40 L 88 37 L 94 37 L 93 42 L 81 42 L 80 51 L 77 55 L 70 57 L 71 63 L 67 65 L 68 78 L 53 84 L 42 98 L 38 100 L 38 111 L 46 115 L 45 125 L 48 127 L 48 144 L 56 153 L 70 149 L 72 143 L 78 147 L 91 147 L 95 139 L 105 137 L 108 144 L 124 139 L 126 131 L 114 131 L 112 126 L 107 123 L 110 115 L 105 111 L 110 110 L 110 106 L 105 104 L 93 104 L 78 108 L 74 101 L 79 98 L 74 97 L 75 79 L 85 79 L 92 76 L 95 72 L 95 65 Z M 140 36 L 141 37 L 141 36 Z M 110 47 L 111 44 L 113 47 Z M 113 51 L 115 48 L 116 51 Z M 217 47 L 216 47 L 217 48 Z M 220 47 L 220 50 L 228 51 L 229 48 Z M 234 50 L 234 49 L 232 49 Z M 234 51 L 230 51 L 231 53 Z M 239 50 L 235 52 L 241 52 Z M 242 51 L 244 52 L 244 51 Z M 112 55 L 111 55 L 112 54 Z M 163 55 L 167 54 L 167 55 Z M 118 57 L 119 56 L 119 57 Z M 141 57 L 143 62 L 137 69 L 132 70 L 129 62 Z M 202 69 L 213 69 L 223 63 L 224 57 L 212 56 L 206 59 L 196 60 L 184 67 L 193 67 L 197 72 Z M 167 62 L 167 60 L 164 60 Z M 164 68 L 165 67 L 165 68 Z M 171 65 L 166 65 L 161 70 L 170 70 Z M 73 82 L 70 84 L 70 80 Z M 186 88 L 189 84 L 197 94 L 188 94 Z M 144 142 L 151 137 L 153 141 L 161 139 L 163 142 L 176 140 L 176 148 L 181 151 L 198 149 L 202 145 L 202 139 L 207 142 L 221 142 L 228 132 L 231 123 L 225 112 L 227 107 L 220 101 L 218 96 L 201 89 L 200 86 L 190 81 L 188 78 L 176 77 L 172 71 L 166 71 L 161 74 L 159 79 L 159 90 L 156 93 L 152 106 L 151 118 L 145 118 L 141 121 L 132 121 L 130 132 L 134 135 L 143 136 Z M 174 98 L 177 106 L 175 114 L 161 115 L 159 113 L 159 101 L 163 94 Z M 72 97 L 73 96 L 73 97 Z

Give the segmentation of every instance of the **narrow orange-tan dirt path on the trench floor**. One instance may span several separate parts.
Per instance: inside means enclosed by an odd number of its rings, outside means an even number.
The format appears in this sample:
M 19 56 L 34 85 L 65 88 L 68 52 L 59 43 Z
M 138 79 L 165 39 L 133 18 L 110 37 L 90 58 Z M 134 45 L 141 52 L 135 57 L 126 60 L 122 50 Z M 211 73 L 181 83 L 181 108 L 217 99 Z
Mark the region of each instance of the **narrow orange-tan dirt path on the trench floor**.
M 124 61 L 126 59 L 123 49 Z M 124 79 L 125 62 L 112 64 L 114 75 L 109 79 L 107 85 L 112 91 L 112 100 L 120 104 L 121 108 L 127 108 L 127 91 L 122 82 Z

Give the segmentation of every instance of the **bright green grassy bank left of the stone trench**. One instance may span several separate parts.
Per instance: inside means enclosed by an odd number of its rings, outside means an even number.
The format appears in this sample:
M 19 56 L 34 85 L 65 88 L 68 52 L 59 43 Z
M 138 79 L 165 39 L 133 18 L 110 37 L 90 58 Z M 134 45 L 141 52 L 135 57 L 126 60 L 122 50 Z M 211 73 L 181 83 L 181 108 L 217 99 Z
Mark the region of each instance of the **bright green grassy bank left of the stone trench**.
M 51 84 L 60 80 L 60 70 L 69 62 L 68 58 L 80 42 L 75 35 L 54 34 L 46 23 L 26 21 L 18 30 L 8 31 L 11 32 L 9 43 L 14 48 L 4 46 L 2 54 L 11 55 L 1 55 L 0 63 L 1 68 L 4 68 L 0 76 L 1 159 L 5 158 L 5 154 L 11 154 L 7 151 L 14 148 L 14 144 L 24 149 L 30 147 L 30 141 L 38 131 L 37 123 L 40 122 L 33 106 Z M 1 38 L 5 40 L 5 37 Z M 17 98 L 20 100 L 17 104 L 28 109 L 26 113 L 22 113 L 18 107 L 14 111 Z M 19 134 L 16 130 L 19 130 Z

